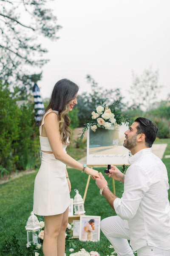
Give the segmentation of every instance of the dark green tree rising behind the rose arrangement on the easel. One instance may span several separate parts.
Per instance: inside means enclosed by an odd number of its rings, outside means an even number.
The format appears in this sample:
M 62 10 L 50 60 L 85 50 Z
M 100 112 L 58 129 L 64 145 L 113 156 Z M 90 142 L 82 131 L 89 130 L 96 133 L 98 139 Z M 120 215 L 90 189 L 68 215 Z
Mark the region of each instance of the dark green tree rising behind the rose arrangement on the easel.
M 91 117 L 91 112 L 94 111 L 99 105 L 107 104 L 112 105 L 114 102 L 117 102 L 116 106 L 119 108 L 119 111 L 122 111 L 124 104 L 122 103 L 122 96 L 119 88 L 117 89 L 104 89 L 99 87 L 96 81 L 90 76 L 86 76 L 88 83 L 91 83 L 91 93 L 82 93 L 77 96 L 77 108 L 79 126 L 82 127 L 87 120 Z

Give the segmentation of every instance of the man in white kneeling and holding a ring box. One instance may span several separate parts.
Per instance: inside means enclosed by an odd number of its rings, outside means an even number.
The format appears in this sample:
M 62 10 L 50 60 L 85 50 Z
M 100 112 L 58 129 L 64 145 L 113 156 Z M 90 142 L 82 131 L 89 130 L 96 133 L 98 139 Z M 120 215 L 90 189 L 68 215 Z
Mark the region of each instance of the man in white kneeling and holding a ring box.
M 118 256 L 170 256 L 170 203 L 167 169 L 152 153 L 158 128 L 149 119 L 137 118 L 125 131 L 124 147 L 133 154 L 126 175 L 111 165 L 109 177 L 124 183 L 122 198 L 108 188 L 100 173 L 96 184 L 117 216 L 101 221 L 101 230 Z M 127 240 L 130 240 L 131 249 Z

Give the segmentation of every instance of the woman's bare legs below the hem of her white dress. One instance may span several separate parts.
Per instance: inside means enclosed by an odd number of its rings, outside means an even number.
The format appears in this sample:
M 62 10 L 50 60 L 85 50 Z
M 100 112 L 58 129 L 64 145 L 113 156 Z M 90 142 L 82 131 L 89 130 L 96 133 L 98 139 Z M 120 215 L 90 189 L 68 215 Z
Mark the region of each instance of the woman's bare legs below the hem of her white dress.
M 66 215 L 68 218 L 68 209 L 62 214 L 44 216 L 45 227 L 44 227 L 44 240 L 42 245 L 44 256 L 57 256 L 57 255 L 64 256 L 65 237 L 64 239 L 59 239 L 61 243 L 59 245 L 59 248 L 60 248 L 59 251 L 63 253 L 58 252 L 57 254 L 57 250 L 58 250 L 57 242 L 60 236 L 60 230 L 61 230 L 61 233 L 63 233 L 63 219 L 66 218 Z

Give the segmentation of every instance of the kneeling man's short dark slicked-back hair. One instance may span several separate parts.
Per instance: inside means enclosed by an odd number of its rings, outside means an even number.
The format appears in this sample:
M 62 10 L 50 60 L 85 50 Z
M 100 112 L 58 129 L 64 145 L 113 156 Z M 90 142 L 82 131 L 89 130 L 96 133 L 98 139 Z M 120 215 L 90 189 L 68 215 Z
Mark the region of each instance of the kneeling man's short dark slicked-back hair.
M 139 125 L 136 127 L 137 129 L 136 133 L 137 134 L 143 133 L 145 135 L 145 144 L 147 145 L 148 148 L 151 148 L 153 142 L 156 139 L 158 126 L 151 120 L 144 117 L 138 117 L 135 119 L 134 122 L 139 123 Z

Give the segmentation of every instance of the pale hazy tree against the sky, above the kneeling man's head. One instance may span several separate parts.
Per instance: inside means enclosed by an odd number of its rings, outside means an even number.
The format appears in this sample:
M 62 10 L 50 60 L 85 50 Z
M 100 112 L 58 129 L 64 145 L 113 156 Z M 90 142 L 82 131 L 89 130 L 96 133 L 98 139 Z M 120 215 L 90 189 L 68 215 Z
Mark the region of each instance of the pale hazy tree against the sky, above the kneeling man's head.
M 132 108 L 149 109 L 156 100 L 162 85 L 158 84 L 159 72 L 151 70 L 144 70 L 141 76 L 132 72 L 133 84 L 130 87 L 129 93 L 132 95 Z

